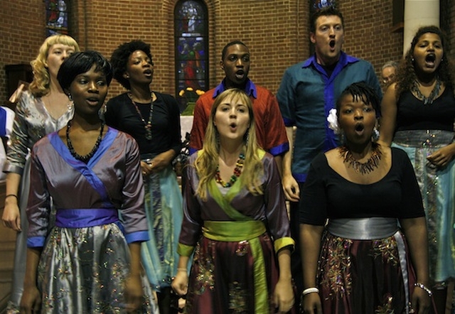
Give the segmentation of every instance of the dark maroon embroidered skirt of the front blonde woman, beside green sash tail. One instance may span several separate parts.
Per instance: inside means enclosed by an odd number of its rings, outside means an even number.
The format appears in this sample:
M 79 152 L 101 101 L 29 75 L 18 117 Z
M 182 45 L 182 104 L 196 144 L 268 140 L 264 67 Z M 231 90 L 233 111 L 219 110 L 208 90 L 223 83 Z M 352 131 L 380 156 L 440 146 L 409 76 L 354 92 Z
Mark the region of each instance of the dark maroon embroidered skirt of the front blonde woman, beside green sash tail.
M 268 296 L 264 312 L 255 311 L 255 272 L 252 248 L 248 241 L 220 242 L 201 237 L 198 242 L 188 283 L 183 313 L 275 313 L 272 293 L 278 281 L 278 265 L 272 239 L 259 236 L 264 256 L 265 283 Z

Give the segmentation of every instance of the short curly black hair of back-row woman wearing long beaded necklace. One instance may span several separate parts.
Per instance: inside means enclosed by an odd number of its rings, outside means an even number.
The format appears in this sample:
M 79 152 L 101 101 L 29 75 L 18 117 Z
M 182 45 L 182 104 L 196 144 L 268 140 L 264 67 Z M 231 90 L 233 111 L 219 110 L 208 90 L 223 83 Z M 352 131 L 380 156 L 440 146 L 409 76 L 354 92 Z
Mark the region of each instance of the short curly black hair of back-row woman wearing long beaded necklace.
M 142 40 L 132 40 L 128 43 L 122 43 L 114 50 L 111 56 L 112 67 L 114 67 L 114 79 L 127 90 L 131 89 L 131 85 L 129 84 L 129 80 L 124 78 L 123 75 L 127 70 L 129 56 L 136 50 L 143 51 L 152 60 L 150 45 L 144 43 Z

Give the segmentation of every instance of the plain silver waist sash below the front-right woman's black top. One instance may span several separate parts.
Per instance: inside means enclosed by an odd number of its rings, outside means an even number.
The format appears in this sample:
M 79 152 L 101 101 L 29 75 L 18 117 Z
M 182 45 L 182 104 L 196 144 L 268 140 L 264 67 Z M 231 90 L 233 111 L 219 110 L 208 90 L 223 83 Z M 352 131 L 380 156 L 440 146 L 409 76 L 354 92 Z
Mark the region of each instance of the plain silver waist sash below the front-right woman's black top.
M 384 239 L 398 230 L 397 219 L 389 217 L 340 218 L 329 220 L 328 232 L 357 240 Z

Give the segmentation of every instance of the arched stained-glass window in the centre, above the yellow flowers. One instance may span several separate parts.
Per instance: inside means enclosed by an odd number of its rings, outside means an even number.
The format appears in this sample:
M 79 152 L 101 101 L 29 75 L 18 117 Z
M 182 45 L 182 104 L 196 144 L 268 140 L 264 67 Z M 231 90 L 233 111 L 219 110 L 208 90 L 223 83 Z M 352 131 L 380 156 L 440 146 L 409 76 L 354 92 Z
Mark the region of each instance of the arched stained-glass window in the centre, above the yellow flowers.
M 208 90 L 208 18 L 203 1 L 178 1 L 174 11 L 176 95 L 181 111 Z

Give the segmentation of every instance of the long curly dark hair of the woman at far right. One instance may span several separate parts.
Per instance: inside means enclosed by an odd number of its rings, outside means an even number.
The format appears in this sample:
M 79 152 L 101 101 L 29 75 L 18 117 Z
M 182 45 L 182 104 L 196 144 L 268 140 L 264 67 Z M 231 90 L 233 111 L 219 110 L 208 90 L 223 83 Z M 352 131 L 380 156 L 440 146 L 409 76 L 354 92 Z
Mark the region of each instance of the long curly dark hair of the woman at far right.
M 396 87 L 396 94 L 397 98 L 400 97 L 402 92 L 410 90 L 412 85 L 414 85 L 414 81 L 417 79 L 417 75 L 414 69 L 414 48 L 419 42 L 420 37 L 422 37 L 426 33 L 434 33 L 441 39 L 442 48 L 444 50 L 444 54 L 442 55 L 441 63 L 439 67 L 436 69 L 436 75 L 439 77 L 441 82 L 444 82 L 446 87 L 454 88 L 454 75 L 453 75 L 453 67 L 451 61 L 449 60 L 449 55 L 446 53 L 449 51 L 449 47 L 447 47 L 446 34 L 437 26 L 422 26 L 417 30 L 415 33 L 414 38 L 412 38 L 411 48 L 407 50 L 405 58 L 400 63 L 400 67 L 398 67 L 397 72 L 397 87 Z

